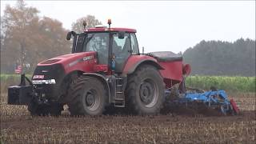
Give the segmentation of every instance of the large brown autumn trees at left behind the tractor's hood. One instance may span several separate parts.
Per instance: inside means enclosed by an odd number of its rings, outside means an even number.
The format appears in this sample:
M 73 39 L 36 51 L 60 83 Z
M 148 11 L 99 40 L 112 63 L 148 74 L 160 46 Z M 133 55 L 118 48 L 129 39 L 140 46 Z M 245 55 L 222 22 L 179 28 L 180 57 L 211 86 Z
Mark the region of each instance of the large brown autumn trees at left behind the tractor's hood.
M 2 72 L 14 72 L 15 63 L 29 63 L 33 71 L 38 62 L 70 52 L 62 23 L 51 18 L 39 18 L 39 11 L 18 0 L 14 7 L 6 6 L 1 18 Z

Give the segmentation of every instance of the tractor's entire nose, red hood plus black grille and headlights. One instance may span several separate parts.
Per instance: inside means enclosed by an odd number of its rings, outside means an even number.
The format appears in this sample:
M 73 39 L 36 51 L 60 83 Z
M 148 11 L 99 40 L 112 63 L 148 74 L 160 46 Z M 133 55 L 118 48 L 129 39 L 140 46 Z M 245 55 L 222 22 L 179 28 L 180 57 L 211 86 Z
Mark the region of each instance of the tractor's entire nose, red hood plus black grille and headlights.
M 57 100 L 66 93 L 66 75 L 73 71 L 92 72 L 97 64 L 96 52 L 82 52 L 61 55 L 38 63 L 32 82 L 37 85 L 37 93 L 46 94 L 46 98 Z M 41 90 L 41 91 L 40 91 Z

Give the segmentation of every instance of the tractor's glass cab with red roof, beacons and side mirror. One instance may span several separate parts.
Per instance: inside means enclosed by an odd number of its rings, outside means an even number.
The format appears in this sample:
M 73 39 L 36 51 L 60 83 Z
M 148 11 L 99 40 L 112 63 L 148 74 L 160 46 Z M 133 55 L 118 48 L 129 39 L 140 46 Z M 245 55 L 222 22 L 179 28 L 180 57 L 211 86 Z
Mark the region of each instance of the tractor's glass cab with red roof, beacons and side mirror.
M 110 70 L 122 73 L 131 54 L 139 54 L 136 30 L 126 28 L 110 28 L 106 26 L 86 28 L 81 34 L 71 31 L 66 39 L 73 35 L 72 53 L 97 52 L 98 65 L 107 65 Z

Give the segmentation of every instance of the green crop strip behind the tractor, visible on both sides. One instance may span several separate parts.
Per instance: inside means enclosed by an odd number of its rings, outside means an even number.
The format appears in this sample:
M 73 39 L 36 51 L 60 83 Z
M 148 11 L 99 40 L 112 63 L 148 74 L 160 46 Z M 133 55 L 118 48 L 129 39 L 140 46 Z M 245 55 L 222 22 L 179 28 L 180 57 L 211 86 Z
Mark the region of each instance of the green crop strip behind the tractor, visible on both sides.
M 26 75 L 31 78 L 31 74 Z M 1 74 L 1 91 L 6 92 L 8 86 L 18 85 L 19 74 Z M 228 92 L 255 92 L 255 77 L 227 77 L 227 76 L 189 76 L 186 78 L 186 86 L 210 90 L 210 86 L 215 86 L 219 90 Z

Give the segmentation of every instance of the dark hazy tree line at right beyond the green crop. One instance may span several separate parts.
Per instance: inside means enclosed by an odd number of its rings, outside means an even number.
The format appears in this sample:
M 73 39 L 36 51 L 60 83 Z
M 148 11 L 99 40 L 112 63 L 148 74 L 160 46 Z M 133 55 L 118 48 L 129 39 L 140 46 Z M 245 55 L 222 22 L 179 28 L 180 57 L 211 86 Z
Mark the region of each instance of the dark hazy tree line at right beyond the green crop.
M 191 74 L 255 76 L 255 40 L 202 41 L 183 54 Z

